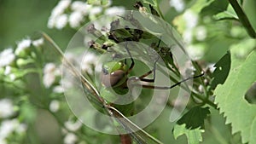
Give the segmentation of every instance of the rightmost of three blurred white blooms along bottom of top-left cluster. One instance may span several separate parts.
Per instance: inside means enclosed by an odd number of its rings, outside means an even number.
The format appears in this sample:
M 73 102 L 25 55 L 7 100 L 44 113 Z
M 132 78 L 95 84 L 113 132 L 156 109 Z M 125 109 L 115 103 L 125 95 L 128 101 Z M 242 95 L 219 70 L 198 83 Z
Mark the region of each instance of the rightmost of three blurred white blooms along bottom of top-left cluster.
M 84 20 L 84 15 L 79 12 L 75 11 L 69 16 L 69 25 L 73 28 L 80 26 L 81 22 Z

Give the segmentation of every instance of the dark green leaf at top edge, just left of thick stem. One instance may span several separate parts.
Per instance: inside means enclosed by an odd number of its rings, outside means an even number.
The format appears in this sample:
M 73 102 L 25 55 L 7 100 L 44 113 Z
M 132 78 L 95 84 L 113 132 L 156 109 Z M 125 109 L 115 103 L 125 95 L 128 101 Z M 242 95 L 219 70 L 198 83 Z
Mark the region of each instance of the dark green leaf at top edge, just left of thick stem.
M 201 9 L 201 16 L 214 15 L 225 11 L 228 8 L 228 1 L 215 0 L 205 8 Z

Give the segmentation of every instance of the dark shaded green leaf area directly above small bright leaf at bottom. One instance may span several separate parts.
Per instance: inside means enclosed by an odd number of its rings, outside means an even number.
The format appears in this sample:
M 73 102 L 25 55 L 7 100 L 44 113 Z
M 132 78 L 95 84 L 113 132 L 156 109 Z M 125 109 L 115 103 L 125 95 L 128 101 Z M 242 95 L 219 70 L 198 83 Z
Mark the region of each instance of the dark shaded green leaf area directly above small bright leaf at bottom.
M 202 129 L 204 128 L 204 119 L 209 113 L 209 107 L 193 107 L 177 121 L 177 124 L 186 124 L 187 129 Z

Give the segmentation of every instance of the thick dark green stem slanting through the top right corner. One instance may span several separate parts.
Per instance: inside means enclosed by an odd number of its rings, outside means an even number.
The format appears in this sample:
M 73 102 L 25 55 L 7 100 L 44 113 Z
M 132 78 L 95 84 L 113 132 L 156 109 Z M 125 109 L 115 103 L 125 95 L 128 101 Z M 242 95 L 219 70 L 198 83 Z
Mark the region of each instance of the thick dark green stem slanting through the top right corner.
M 241 21 L 242 26 L 244 26 L 247 30 L 247 33 L 250 37 L 256 38 L 256 33 L 253 30 L 253 26 L 251 25 L 250 21 L 247 18 L 247 15 L 244 13 L 244 11 L 241 9 L 241 6 L 239 3 L 237 3 L 236 0 L 229 0 L 231 6 L 236 11 L 236 14 Z

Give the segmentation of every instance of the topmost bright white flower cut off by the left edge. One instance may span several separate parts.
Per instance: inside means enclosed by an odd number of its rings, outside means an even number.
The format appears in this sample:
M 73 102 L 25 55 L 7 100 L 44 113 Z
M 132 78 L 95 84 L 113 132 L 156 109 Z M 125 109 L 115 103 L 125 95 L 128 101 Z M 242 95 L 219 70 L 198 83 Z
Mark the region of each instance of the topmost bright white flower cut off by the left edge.
M 15 54 L 13 53 L 13 49 L 5 49 L 2 53 L 0 53 L 0 67 L 8 66 L 15 60 Z

